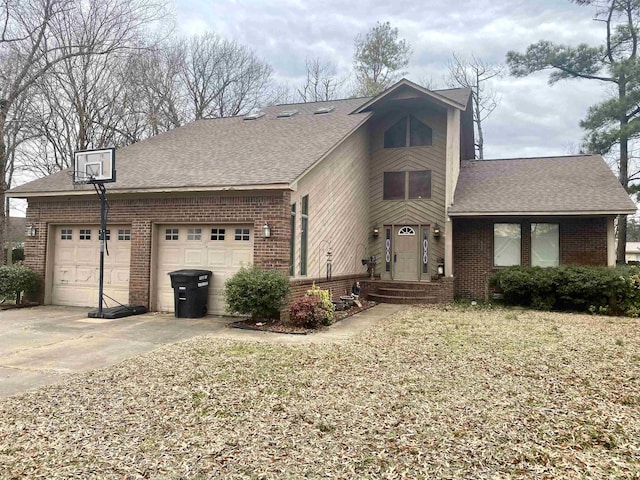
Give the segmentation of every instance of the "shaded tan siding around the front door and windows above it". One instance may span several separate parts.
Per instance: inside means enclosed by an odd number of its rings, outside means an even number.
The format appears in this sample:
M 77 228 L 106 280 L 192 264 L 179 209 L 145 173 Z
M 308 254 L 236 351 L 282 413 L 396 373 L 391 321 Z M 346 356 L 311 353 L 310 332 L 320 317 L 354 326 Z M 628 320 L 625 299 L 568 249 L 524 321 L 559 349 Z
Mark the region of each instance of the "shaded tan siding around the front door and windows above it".
M 384 225 L 431 225 L 445 223 L 447 113 L 445 110 L 410 112 L 433 130 L 433 145 L 385 149 L 384 131 L 406 113 L 389 115 L 374 121 L 371 133 L 371 172 L 369 214 L 372 224 L 380 227 L 380 237 L 370 241 L 370 251 L 379 259 L 377 272 L 385 275 Z M 431 170 L 430 200 L 383 200 L 384 172 Z M 429 274 L 436 273 L 436 263 L 444 257 L 444 238 L 429 237 Z

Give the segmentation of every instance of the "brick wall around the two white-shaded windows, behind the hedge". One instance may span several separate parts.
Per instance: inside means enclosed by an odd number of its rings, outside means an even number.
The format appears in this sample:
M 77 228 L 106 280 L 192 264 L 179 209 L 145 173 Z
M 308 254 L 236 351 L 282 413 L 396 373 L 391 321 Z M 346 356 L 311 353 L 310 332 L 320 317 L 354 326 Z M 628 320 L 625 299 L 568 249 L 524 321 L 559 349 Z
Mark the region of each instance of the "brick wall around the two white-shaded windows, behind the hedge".
M 500 219 L 501 223 L 520 223 L 522 227 L 522 265 L 531 264 L 531 223 L 560 225 L 560 263 L 607 264 L 606 218 Z M 455 219 L 453 222 L 453 268 L 455 295 L 486 300 L 493 267 L 494 220 Z

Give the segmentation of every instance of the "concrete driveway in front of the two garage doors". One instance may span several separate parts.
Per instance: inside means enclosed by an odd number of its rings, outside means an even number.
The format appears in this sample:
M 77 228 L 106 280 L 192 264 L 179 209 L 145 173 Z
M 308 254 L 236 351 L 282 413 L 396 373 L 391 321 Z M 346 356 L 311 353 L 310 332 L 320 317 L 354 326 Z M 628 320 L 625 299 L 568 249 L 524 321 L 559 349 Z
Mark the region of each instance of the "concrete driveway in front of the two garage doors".
M 148 313 L 87 318 L 88 308 L 0 311 L 0 397 L 56 383 L 64 374 L 121 362 L 161 345 L 219 332 L 232 320 Z

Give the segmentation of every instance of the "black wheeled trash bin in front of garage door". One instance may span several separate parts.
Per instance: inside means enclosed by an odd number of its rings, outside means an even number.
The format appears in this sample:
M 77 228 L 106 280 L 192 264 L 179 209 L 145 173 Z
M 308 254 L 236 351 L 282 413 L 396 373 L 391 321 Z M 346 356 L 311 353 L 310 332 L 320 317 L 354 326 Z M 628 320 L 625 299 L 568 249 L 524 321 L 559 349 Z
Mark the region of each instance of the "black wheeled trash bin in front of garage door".
M 209 270 L 176 270 L 169 272 L 173 288 L 176 318 L 200 318 L 207 314 Z

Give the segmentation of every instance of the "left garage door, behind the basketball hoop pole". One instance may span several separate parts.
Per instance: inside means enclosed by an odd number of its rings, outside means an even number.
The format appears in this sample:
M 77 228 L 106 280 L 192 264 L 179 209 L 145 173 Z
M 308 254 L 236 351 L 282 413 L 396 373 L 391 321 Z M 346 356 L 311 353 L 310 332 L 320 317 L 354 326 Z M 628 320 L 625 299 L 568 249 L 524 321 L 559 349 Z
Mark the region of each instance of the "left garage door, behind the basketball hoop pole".
M 100 280 L 100 227 L 98 225 L 55 228 L 51 303 L 77 307 L 98 306 Z M 104 293 L 122 304 L 129 303 L 131 227 L 109 225 L 104 256 Z M 108 306 L 115 305 L 106 299 Z

